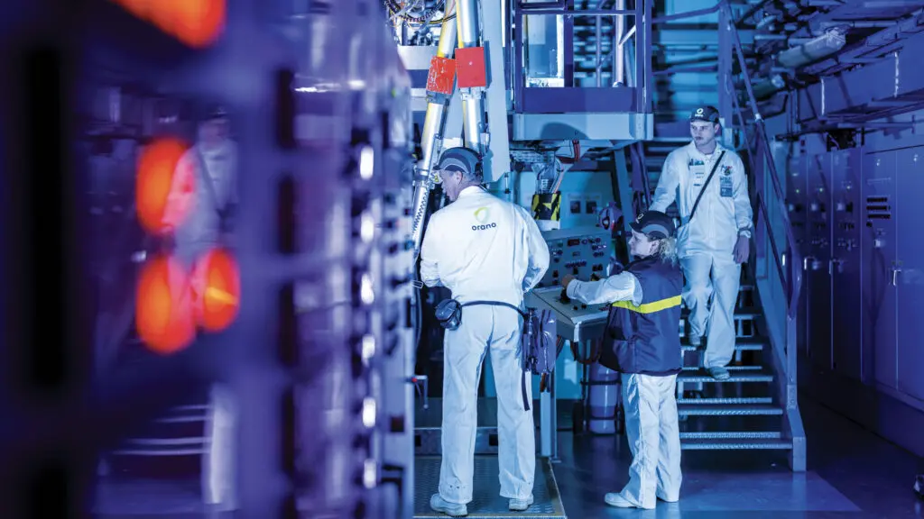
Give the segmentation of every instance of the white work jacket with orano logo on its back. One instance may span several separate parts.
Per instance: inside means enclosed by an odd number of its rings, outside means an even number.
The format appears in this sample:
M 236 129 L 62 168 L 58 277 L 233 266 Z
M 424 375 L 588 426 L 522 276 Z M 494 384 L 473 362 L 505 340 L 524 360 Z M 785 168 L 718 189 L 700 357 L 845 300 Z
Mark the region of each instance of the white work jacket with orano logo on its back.
M 519 306 L 549 268 L 549 247 L 525 209 L 466 187 L 430 217 L 420 248 L 420 276 L 461 303 Z

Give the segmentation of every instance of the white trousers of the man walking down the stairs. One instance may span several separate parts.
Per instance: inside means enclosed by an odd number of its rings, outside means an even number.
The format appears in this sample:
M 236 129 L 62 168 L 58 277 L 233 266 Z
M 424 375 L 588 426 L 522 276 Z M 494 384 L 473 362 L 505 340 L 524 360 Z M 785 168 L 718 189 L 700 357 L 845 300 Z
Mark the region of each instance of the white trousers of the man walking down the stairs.
M 695 253 L 680 259 L 687 284 L 690 332 L 706 336 L 705 368 L 725 367 L 735 355 L 735 304 L 741 265 L 731 253 Z M 710 301 L 711 299 L 711 301 Z

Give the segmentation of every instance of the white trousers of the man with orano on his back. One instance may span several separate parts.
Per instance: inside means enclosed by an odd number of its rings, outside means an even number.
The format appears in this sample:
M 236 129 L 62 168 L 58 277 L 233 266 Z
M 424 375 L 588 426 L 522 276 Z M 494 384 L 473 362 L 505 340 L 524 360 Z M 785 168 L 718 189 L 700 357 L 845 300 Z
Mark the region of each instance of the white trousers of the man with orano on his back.
M 443 463 L 439 492 L 445 501 L 468 504 L 472 500 L 478 383 L 488 350 L 497 389 L 501 496 L 526 500 L 532 495 L 536 426 L 529 378 L 530 410 L 523 405 L 519 341 L 517 312 L 513 308 L 486 305 L 463 308 L 459 327 L 444 334 Z

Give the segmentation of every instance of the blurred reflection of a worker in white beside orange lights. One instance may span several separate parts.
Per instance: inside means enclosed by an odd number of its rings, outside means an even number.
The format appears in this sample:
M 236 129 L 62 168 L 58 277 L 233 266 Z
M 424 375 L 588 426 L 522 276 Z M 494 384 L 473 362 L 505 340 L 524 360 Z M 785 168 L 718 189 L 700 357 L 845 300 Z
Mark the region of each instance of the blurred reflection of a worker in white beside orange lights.
M 231 245 L 237 208 L 237 144 L 229 136 L 227 113 L 221 107 L 211 108 L 198 130 L 196 144 L 176 165 L 164 214 L 174 258 L 187 274 L 213 248 Z M 236 423 L 234 395 L 224 384 L 213 384 L 202 455 L 202 499 L 224 509 L 236 506 Z

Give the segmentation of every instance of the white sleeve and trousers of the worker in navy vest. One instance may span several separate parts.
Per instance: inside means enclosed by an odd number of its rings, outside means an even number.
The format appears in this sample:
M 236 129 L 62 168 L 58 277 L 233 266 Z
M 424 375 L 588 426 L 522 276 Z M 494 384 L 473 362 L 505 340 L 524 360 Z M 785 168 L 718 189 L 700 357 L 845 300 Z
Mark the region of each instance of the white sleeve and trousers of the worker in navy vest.
M 596 282 L 572 281 L 568 284 L 567 296 L 586 305 L 632 301 L 638 306 L 642 290 L 631 272 L 620 272 Z M 677 501 L 683 481 L 677 425 L 677 376 L 623 373 L 622 382 L 632 465 L 629 465 L 629 482 L 619 495 L 639 508 L 654 508 L 657 498 Z

